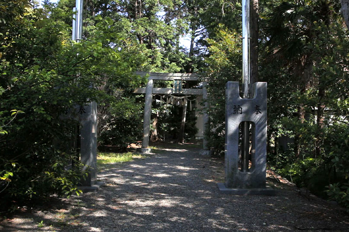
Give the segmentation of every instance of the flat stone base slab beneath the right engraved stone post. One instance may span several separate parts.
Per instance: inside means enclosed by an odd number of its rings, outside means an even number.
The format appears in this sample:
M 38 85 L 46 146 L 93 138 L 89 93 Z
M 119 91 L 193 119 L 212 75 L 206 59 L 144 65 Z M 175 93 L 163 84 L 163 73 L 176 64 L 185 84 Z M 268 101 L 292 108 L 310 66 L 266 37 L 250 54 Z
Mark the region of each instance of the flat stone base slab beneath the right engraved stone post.
M 275 196 L 277 190 L 272 189 L 271 187 L 267 188 L 226 188 L 224 183 L 218 183 L 218 188 L 224 194 L 229 195 L 265 195 L 265 196 Z

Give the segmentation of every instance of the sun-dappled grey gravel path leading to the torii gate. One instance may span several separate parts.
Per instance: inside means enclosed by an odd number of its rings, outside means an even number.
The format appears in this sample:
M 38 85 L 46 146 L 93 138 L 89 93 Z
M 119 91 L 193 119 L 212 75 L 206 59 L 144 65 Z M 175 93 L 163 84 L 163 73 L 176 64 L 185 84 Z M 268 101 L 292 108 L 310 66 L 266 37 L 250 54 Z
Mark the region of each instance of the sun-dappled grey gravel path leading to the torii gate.
M 220 193 L 223 166 L 222 160 L 203 158 L 188 145 L 159 149 L 101 171 L 98 178 L 106 186 L 98 192 L 5 219 L 0 231 L 349 231 L 342 208 L 295 190 L 277 196 Z

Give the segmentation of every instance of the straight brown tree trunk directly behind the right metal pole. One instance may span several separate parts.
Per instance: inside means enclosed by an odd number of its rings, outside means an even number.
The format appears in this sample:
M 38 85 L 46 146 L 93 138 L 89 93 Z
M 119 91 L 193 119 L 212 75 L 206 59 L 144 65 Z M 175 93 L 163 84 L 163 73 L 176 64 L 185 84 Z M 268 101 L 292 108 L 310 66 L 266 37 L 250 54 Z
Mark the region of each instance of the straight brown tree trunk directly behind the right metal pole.
M 250 67 L 251 67 L 251 84 L 258 81 L 258 1 L 251 0 L 250 8 Z

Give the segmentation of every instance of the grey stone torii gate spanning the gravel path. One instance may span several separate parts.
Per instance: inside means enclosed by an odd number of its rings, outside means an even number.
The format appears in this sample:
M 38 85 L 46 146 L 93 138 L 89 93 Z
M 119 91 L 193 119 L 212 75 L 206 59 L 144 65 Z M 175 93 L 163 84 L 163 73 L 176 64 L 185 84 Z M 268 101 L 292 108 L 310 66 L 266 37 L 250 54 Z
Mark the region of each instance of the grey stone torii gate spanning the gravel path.
M 142 153 L 149 153 L 151 149 L 149 146 L 149 134 L 150 134 L 150 119 L 151 109 L 153 102 L 153 94 L 178 94 L 178 95 L 202 95 L 203 100 L 207 99 L 206 82 L 203 82 L 202 89 L 183 88 L 181 87 L 182 81 L 197 81 L 198 76 L 196 73 L 149 73 L 149 72 L 136 72 L 135 74 L 140 76 L 148 76 L 148 83 L 145 88 L 137 88 L 134 93 L 145 94 L 144 103 L 144 115 L 143 115 L 143 141 L 142 148 L 137 150 Z M 154 80 L 161 81 L 174 81 L 173 88 L 154 88 Z M 204 126 L 207 130 L 208 115 L 206 114 L 206 108 L 208 107 L 205 102 L 204 107 Z M 211 151 L 207 147 L 206 135 L 204 135 L 203 150 L 200 154 L 203 156 L 210 156 Z

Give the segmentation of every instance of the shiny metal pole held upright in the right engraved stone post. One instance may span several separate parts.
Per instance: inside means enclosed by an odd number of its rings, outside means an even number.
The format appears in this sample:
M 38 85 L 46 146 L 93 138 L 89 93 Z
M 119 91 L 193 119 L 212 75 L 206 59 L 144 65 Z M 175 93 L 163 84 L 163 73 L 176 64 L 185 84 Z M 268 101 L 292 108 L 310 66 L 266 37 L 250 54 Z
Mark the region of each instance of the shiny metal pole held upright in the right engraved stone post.
M 242 0 L 242 91 L 250 98 L 250 0 Z M 250 123 L 242 124 L 241 171 L 249 169 Z

